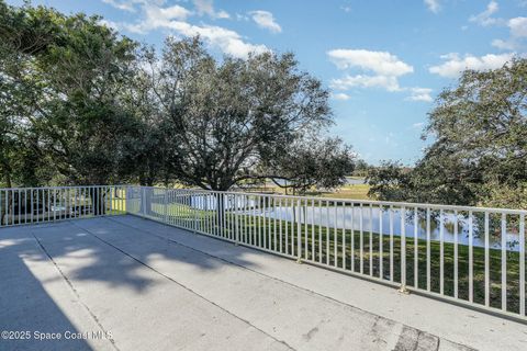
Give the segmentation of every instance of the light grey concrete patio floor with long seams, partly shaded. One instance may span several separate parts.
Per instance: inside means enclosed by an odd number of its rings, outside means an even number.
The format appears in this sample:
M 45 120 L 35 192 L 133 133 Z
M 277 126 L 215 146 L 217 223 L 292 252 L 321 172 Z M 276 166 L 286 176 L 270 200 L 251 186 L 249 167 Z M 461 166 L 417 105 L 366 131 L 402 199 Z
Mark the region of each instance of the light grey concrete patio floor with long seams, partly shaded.
M 133 216 L 0 229 L 0 330 L 29 331 L 0 350 L 527 350 L 526 325 Z

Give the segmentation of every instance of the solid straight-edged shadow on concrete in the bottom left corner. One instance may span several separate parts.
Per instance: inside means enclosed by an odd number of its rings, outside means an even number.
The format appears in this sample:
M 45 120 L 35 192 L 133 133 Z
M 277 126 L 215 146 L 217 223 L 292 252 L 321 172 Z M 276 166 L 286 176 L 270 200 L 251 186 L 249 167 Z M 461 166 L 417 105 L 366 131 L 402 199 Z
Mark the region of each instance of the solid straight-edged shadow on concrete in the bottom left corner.
M 46 254 L 31 238 L 12 229 L 3 230 L 0 231 L 0 350 L 91 350 L 83 339 L 66 339 L 80 331 L 23 260 L 30 257 L 47 260 Z M 42 340 L 57 335 L 59 340 Z

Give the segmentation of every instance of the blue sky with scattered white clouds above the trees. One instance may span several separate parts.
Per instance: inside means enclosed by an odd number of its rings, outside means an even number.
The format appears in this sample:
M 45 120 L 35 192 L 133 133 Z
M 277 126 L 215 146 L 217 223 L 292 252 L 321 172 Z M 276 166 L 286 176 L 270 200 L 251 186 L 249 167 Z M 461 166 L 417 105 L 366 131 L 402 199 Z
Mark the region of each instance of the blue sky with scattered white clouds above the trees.
M 527 52 L 527 0 L 33 3 L 100 14 L 109 26 L 157 47 L 167 35 L 200 34 L 217 55 L 291 50 L 333 91 L 330 133 L 371 163 L 415 162 L 426 146 L 421 134 L 427 112 L 460 70 L 497 68 Z

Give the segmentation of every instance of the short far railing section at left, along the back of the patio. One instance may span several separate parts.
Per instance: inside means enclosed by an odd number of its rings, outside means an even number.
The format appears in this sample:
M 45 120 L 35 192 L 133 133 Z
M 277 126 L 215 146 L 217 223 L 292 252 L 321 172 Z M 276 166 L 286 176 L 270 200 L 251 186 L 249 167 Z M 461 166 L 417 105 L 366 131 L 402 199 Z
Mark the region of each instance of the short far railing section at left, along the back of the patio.
M 122 185 L 0 189 L 0 227 L 125 214 Z

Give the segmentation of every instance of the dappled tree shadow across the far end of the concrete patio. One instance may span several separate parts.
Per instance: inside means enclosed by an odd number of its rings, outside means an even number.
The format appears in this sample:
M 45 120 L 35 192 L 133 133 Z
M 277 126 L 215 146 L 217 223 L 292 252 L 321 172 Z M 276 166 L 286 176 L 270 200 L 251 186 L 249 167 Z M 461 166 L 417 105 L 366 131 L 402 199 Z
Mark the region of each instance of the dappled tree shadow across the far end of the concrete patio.
M 56 224 L 9 228 L 11 235 L 2 235 L 0 240 L 16 237 L 36 238 L 47 254 L 32 254 L 32 259 L 56 261 L 68 259 L 66 275 L 71 281 L 103 282 L 112 287 L 130 287 L 136 293 L 153 287 L 156 282 L 137 272 L 138 264 L 149 267 L 150 260 L 179 261 L 197 270 L 220 270 L 231 264 L 195 249 L 178 245 L 180 236 L 195 236 L 190 231 L 157 224 L 132 216 L 68 220 Z M 200 236 L 203 240 L 213 240 Z M 226 250 L 228 245 L 225 244 Z M 16 245 L 11 247 L 16 251 Z M 0 254 L 3 249 L 0 247 Z M 229 250 L 239 254 L 240 250 Z M 75 259 L 72 261 L 71 259 Z M 236 262 L 246 267 L 255 265 L 236 257 Z M 60 265 L 60 264 L 59 264 Z M 46 281 L 44 281 L 46 283 Z M 1 293 L 0 293 L 1 294 Z

